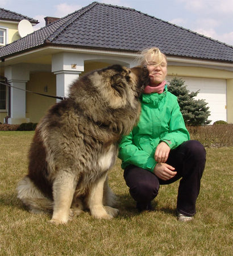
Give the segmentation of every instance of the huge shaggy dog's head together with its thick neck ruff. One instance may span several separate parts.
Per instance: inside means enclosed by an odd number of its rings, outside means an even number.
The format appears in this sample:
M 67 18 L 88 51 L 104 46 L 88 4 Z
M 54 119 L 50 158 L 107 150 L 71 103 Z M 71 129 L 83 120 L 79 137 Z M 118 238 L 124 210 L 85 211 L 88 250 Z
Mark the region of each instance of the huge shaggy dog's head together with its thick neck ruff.
M 146 68 L 112 65 L 74 81 L 70 86 L 70 102 L 74 102 L 78 113 L 89 117 L 89 121 L 101 127 L 104 124 L 114 134 L 125 135 L 140 117 L 139 96 L 147 84 Z

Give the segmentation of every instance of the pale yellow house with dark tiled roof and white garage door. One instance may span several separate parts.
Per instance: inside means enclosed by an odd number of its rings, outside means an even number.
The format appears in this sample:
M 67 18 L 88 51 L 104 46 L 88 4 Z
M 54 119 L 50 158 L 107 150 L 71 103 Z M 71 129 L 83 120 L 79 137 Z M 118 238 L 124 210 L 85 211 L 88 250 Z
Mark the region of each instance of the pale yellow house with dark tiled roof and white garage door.
M 47 17 L 48 18 L 48 17 Z M 69 84 L 92 69 L 136 65 L 138 52 L 159 47 L 167 55 L 168 81 L 182 77 L 199 91 L 213 122 L 233 123 L 233 47 L 134 9 L 93 2 L 0 48 L 1 75 L 10 89 L 1 122 L 38 122 L 53 98 L 24 89 L 67 96 Z M 7 101 L 7 95 L 6 101 Z

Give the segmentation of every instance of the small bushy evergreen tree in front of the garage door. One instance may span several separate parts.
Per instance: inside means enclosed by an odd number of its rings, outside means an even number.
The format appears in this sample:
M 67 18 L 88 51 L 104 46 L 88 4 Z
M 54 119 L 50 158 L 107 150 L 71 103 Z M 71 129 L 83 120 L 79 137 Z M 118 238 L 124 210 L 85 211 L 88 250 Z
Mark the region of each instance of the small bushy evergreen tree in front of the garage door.
M 211 121 L 207 118 L 210 115 L 209 107 L 205 100 L 195 100 L 197 92 L 189 92 L 183 79 L 174 77 L 168 85 L 168 90 L 177 96 L 181 113 L 184 117 L 185 125 L 198 126 L 208 125 Z

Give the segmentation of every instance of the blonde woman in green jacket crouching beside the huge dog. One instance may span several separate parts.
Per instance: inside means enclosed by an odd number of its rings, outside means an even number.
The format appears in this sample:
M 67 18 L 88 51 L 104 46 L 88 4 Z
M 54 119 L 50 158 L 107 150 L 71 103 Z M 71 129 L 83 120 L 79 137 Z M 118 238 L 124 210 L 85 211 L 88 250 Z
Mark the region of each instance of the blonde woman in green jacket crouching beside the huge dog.
M 190 141 L 177 98 L 167 90 L 166 56 L 158 48 L 145 49 L 140 64 L 147 67 L 150 84 L 141 97 L 138 125 L 120 143 L 124 179 L 139 211 L 152 209 L 160 185 L 181 179 L 178 220 L 190 221 L 205 168 L 205 148 Z

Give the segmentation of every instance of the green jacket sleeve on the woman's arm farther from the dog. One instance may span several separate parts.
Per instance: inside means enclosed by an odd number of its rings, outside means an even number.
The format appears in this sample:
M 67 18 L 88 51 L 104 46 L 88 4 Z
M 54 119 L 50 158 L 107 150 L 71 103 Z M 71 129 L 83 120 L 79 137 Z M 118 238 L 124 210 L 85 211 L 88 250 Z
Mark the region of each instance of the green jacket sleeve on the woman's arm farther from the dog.
M 180 112 L 180 106 L 177 100 L 170 114 L 169 133 L 161 134 L 160 142 L 164 141 L 168 144 L 170 149 L 178 147 L 185 141 L 189 141 L 190 135 L 185 127 L 184 118 Z

